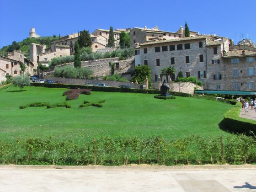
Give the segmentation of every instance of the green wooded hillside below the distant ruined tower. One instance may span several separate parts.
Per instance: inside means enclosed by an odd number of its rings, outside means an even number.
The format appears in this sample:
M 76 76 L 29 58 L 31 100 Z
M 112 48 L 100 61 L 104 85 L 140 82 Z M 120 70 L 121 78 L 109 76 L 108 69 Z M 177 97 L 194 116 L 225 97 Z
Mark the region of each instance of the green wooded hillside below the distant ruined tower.
M 27 55 L 29 58 L 29 44 L 30 43 L 38 43 L 45 44 L 48 48 L 51 45 L 51 42 L 58 40 L 59 37 L 28 37 L 21 42 L 12 42 L 11 45 L 4 46 L 0 49 L 0 55 L 7 57 L 8 52 L 12 52 L 13 50 L 21 50 L 21 52 Z

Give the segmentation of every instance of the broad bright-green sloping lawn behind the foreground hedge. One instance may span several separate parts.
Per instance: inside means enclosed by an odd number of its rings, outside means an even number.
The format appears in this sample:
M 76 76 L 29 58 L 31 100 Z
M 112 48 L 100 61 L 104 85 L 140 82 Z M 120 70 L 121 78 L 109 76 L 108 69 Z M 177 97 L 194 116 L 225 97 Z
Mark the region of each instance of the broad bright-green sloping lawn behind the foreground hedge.
M 155 99 L 154 94 L 92 92 L 67 101 L 72 107 L 19 106 L 30 102 L 65 101 L 66 89 L 9 87 L 0 91 L 0 139 L 54 136 L 82 140 L 101 136 L 163 135 L 178 138 L 189 134 L 227 135 L 218 123 L 232 105 L 176 96 L 175 100 Z M 84 101 L 106 100 L 102 108 L 79 108 Z

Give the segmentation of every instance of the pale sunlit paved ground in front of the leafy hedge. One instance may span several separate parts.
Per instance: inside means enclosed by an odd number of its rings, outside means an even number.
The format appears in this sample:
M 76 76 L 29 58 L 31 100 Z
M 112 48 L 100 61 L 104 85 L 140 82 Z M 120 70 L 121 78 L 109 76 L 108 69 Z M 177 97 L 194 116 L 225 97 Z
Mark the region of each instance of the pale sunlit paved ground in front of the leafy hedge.
M 138 171 L 0 167 L 0 192 L 256 191 L 256 169 Z

